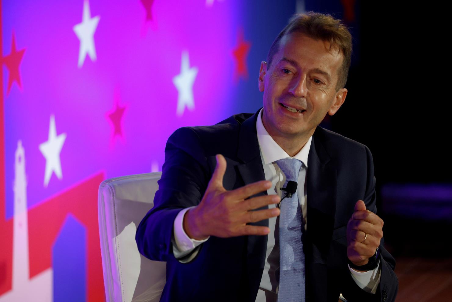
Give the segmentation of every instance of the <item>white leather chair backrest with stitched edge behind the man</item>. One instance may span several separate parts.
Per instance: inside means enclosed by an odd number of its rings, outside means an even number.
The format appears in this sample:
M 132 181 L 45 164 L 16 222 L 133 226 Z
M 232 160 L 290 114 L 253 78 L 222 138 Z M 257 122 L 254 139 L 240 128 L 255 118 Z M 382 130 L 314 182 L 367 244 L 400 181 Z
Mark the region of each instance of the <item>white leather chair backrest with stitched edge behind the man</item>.
M 166 263 L 143 257 L 135 242 L 153 204 L 161 172 L 110 178 L 99 186 L 98 216 L 105 297 L 114 302 L 158 302 Z

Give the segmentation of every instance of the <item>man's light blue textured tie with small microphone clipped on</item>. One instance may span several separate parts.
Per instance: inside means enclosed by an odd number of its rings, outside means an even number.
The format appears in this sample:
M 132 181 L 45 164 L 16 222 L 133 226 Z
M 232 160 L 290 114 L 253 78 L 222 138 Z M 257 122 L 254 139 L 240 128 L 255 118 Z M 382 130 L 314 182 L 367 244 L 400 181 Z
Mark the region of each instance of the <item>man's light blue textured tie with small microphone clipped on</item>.
M 286 175 L 286 182 L 298 182 L 302 162 L 296 158 L 283 158 L 276 161 Z M 298 184 L 298 187 L 304 183 Z M 284 192 L 284 191 L 282 191 Z M 281 201 L 279 215 L 279 289 L 278 302 L 305 302 L 305 254 L 301 241 L 301 207 L 298 194 Z

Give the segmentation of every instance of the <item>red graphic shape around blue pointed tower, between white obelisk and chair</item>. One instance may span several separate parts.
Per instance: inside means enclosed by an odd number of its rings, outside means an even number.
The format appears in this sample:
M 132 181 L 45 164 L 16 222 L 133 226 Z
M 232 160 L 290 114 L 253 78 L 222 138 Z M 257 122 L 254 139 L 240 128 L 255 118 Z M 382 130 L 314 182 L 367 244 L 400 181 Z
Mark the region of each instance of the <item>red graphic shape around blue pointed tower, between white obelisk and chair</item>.
M 51 267 L 52 245 L 69 213 L 86 226 L 89 302 L 105 300 L 97 219 L 97 192 L 104 179 L 104 173 L 97 173 L 28 210 L 30 278 Z

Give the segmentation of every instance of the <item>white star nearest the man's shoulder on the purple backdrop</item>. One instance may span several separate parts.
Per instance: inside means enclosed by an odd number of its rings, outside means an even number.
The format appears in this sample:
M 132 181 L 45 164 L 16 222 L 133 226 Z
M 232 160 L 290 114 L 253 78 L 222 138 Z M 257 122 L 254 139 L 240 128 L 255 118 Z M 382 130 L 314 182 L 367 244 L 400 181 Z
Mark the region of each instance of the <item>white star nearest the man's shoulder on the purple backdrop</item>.
M 193 110 L 195 108 L 195 103 L 193 101 L 193 83 L 198 74 L 198 68 L 190 68 L 190 61 L 188 58 L 188 52 L 182 52 L 182 58 L 180 62 L 180 73 L 173 77 L 174 86 L 176 86 L 179 91 L 179 96 L 177 98 L 177 111 L 176 114 L 181 116 L 184 114 L 185 106 L 188 110 Z

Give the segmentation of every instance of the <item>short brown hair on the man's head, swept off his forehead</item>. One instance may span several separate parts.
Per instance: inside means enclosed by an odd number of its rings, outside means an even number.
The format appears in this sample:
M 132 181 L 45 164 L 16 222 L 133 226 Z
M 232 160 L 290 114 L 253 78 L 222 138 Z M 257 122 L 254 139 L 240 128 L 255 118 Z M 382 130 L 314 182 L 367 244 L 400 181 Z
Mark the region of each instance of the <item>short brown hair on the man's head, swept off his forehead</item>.
M 284 29 L 273 41 L 267 55 L 267 68 L 271 66 L 273 56 L 279 51 L 279 41 L 287 34 L 300 32 L 306 34 L 309 38 L 330 42 L 332 47 L 339 48 L 344 57 L 339 68 L 339 79 L 336 90 L 344 88 L 347 82 L 348 69 L 350 68 L 352 56 L 352 35 L 348 28 L 340 20 L 334 19 L 329 14 L 320 14 L 308 12 L 306 14 L 295 14 Z

